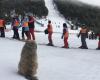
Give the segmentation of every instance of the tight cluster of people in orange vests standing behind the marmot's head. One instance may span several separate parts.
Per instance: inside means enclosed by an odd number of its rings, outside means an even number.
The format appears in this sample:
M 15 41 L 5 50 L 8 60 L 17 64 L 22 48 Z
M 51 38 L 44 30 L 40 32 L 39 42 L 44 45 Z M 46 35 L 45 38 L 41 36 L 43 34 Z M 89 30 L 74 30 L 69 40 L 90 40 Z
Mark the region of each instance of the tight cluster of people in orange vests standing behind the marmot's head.
M 21 21 L 19 20 L 18 16 L 15 16 L 11 25 L 14 32 L 12 38 L 20 40 L 18 29 L 22 27 L 22 39 L 25 40 L 26 35 L 27 40 L 35 40 L 34 22 L 35 18 L 33 16 L 24 16 Z

